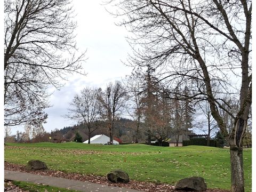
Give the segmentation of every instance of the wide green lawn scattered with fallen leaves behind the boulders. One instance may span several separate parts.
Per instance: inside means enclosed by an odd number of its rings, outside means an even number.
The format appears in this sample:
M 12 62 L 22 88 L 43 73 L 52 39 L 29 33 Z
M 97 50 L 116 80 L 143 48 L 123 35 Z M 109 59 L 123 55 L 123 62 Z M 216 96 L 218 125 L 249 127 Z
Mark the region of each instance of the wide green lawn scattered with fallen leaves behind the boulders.
M 175 184 L 190 176 L 203 177 L 208 188 L 230 188 L 229 149 L 203 146 L 156 147 L 142 144 L 88 145 L 83 143 L 30 143 L 5 146 L 5 161 L 25 165 L 44 161 L 50 169 L 107 175 L 126 171 L 130 179 Z M 246 191 L 252 186 L 252 150 L 244 150 Z

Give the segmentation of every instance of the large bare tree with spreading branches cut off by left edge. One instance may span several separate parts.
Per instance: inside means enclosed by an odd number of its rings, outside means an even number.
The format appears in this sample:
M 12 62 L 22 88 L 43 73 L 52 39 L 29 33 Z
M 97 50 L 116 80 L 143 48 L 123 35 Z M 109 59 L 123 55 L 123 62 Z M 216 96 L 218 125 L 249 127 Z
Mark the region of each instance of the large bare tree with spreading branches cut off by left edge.
M 44 123 L 48 85 L 82 73 L 69 0 L 4 1 L 5 125 Z

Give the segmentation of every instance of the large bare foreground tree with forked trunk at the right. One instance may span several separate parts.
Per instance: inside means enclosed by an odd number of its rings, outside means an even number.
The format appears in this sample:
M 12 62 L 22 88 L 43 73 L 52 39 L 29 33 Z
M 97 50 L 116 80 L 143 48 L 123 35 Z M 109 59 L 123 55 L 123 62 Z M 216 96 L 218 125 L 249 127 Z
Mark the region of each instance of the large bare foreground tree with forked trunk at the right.
M 252 1 L 141 0 L 118 1 L 117 6 L 122 24 L 134 34 L 131 63 L 164 68 L 163 81 L 189 83 L 194 99 L 209 102 L 230 145 L 231 190 L 244 191 L 242 141 L 252 100 Z M 234 76 L 238 85 L 231 81 Z M 218 96 L 213 84 L 221 88 Z M 239 97 L 235 116 L 225 101 L 220 102 L 226 94 Z M 230 134 L 219 109 L 234 118 Z

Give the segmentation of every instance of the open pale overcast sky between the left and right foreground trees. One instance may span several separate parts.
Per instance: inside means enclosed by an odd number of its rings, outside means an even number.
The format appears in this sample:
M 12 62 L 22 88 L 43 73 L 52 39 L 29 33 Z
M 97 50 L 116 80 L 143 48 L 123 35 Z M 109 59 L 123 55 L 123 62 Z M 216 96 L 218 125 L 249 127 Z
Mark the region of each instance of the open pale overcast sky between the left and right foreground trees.
M 85 86 L 104 89 L 108 82 L 121 79 L 129 75 L 132 70 L 121 62 L 121 60 L 125 61 L 130 51 L 130 46 L 125 40 L 127 36 L 125 28 L 115 25 L 117 20 L 105 10 L 101 1 L 86 1 L 86 3 L 73 1 L 73 3 L 77 13 L 77 47 L 81 51 L 87 49 L 88 59 L 84 63 L 87 75 L 70 76 L 66 85 L 51 95 L 52 107 L 46 110 L 48 118 L 47 123 L 44 124 L 47 132 L 76 123 L 62 117 L 67 114 L 68 103 L 75 93 L 79 93 Z M 53 91 L 53 89 L 49 90 Z

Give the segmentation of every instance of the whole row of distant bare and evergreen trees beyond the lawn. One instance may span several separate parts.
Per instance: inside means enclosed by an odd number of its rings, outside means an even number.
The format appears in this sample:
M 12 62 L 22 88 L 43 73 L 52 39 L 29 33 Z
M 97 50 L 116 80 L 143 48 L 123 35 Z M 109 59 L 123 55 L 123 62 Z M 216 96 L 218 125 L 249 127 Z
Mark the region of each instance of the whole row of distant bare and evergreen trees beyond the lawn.
M 185 97 L 190 94 L 188 87 L 183 90 L 177 87 L 175 99 L 169 98 L 170 94 L 153 70 L 148 68 L 145 73 L 137 70 L 127 76 L 124 83 L 109 83 L 105 90 L 86 87 L 75 94 L 65 117 L 86 124 L 89 143 L 91 134 L 102 122 L 106 123 L 110 143 L 113 143 L 115 121 L 121 115 L 133 119 L 129 126 L 136 143 L 139 134 L 147 135 L 149 144 L 157 140 L 162 145 L 171 135 L 175 135 L 178 142 L 180 134 L 191 131 L 195 113 L 193 102 L 181 98 L 180 93 Z

